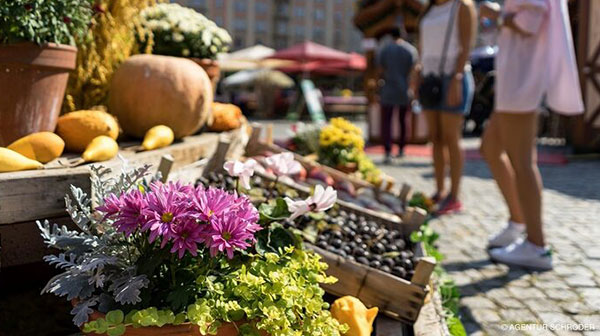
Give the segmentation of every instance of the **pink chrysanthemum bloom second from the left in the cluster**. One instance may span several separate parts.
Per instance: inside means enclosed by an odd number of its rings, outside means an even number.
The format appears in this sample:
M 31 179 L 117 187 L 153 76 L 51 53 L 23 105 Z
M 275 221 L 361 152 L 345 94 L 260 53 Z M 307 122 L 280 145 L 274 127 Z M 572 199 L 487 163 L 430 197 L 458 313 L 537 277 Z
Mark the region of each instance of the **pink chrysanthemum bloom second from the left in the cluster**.
M 150 231 L 150 242 L 163 236 L 164 247 L 172 226 L 185 221 L 190 216 L 191 200 L 189 195 L 181 192 L 174 184 L 154 183 L 150 189 L 151 192 L 147 195 L 148 207 L 144 212 L 148 221 L 142 230 Z

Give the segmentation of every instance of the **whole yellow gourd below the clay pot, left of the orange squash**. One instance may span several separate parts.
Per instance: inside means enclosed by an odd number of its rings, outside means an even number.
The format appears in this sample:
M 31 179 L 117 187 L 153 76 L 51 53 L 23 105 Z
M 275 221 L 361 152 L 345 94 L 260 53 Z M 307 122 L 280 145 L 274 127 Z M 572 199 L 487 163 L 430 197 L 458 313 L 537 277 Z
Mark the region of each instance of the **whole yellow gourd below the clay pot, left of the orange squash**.
M 62 154 L 65 142 L 52 132 L 38 132 L 22 137 L 7 148 L 29 159 L 47 163 Z

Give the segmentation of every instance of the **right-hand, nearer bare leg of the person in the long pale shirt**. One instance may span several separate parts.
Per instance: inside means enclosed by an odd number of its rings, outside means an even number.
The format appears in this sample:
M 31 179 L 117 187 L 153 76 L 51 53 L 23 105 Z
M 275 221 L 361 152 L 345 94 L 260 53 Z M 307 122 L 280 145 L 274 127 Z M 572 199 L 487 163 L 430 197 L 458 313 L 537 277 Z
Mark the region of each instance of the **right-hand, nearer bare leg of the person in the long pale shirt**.
M 527 225 L 527 239 L 544 246 L 542 229 L 542 178 L 537 166 L 538 115 L 530 113 L 499 113 L 499 129 L 506 153 L 515 170 L 519 201 Z

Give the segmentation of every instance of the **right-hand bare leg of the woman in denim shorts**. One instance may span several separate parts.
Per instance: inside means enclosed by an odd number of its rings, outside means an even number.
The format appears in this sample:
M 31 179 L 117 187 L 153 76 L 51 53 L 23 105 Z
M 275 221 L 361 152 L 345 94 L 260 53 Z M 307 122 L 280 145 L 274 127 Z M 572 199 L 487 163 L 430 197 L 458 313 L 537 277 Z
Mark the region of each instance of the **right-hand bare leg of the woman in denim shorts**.
M 441 113 L 442 138 L 448 148 L 450 161 L 450 179 L 452 181 L 450 196 L 459 197 L 460 180 L 464 166 L 464 154 L 460 147 L 462 139 L 463 115 L 459 113 Z

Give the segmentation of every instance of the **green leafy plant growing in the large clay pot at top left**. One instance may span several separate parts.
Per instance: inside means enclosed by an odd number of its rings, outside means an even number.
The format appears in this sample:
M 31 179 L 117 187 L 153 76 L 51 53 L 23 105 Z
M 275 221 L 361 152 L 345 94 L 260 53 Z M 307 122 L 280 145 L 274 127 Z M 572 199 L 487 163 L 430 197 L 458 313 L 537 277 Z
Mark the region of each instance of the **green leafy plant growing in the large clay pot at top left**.
M 5 0 L 0 5 L 0 43 L 74 45 L 94 13 L 91 0 Z

